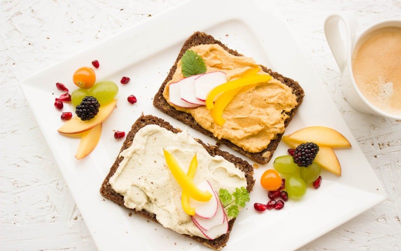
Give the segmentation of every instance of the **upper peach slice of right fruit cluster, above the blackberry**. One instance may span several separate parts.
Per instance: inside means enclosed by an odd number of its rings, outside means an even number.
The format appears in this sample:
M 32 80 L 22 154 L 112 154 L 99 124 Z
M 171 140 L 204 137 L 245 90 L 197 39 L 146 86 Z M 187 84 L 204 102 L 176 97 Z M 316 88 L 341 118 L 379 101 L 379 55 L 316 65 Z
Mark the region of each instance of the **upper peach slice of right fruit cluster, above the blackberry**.
M 311 126 L 288 135 L 288 140 L 295 143 L 313 142 L 327 147 L 351 147 L 350 142 L 339 132 L 324 126 Z

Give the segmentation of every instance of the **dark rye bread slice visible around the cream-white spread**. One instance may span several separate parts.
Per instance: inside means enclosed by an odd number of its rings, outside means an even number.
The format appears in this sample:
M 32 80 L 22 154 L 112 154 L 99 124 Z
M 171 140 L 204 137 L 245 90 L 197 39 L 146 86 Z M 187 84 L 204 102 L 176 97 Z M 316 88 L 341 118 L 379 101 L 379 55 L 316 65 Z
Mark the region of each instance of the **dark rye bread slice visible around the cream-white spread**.
M 142 128 L 146 125 L 151 125 L 151 124 L 163 127 L 169 131 L 172 131 L 173 133 L 178 133 L 181 131 L 179 129 L 172 127 L 168 122 L 164 121 L 163 119 L 160 119 L 160 118 L 157 118 L 157 117 L 154 117 L 151 115 L 146 115 L 146 116 L 141 115 L 136 120 L 134 125 L 132 126 L 131 131 L 128 133 L 127 138 L 124 141 L 123 147 L 120 150 L 120 153 L 132 145 L 135 134 L 136 134 L 136 132 L 139 131 L 140 128 Z M 254 168 L 247 161 L 244 161 L 241 158 L 238 158 L 227 152 L 221 151 L 217 146 L 206 145 L 199 139 L 196 139 L 196 141 L 199 144 L 201 144 L 211 156 L 220 155 L 227 161 L 234 163 L 234 165 L 237 168 L 239 168 L 242 172 L 244 172 L 244 174 L 245 174 L 245 177 L 247 179 L 247 184 L 248 184 L 248 186 L 247 186 L 248 192 L 252 191 L 252 189 L 255 185 L 255 180 L 253 178 Z M 124 206 L 124 197 L 122 195 L 118 194 L 116 191 L 114 191 L 113 188 L 111 187 L 111 185 L 109 184 L 110 177 L 112 177 L 114 175 L 117 168 L 119 167 L 120 162 L 124 159 L 124 157 L 119 157 L 119 155 L 117 156 L 116 161 L 114 162 L 112 168 L 110 169 L 109 174 L 107 175 L 106 179 L 104 180 L 104 182 L 100 188 L 100 194 L 103 197 L 117 203 L 118 205 L 125 207 Z M 153 213 L 149 213 L 145 210 L 141 210 L 141 211 L 136 211 L 134 209 L 130 209 L 130 210 L 133 210 L 135 214 L 144 216 L 147 219 L 158 223 L 156 220 L 156 215 Z M 233 229 L 235 220 L 236 219 L 232 219 L 231 221 L 229 221 L 229 229 L 228 229 L 227 234 L 222 235 L 215 240 L 203 239 L 203 238 L 200 238 L 197 236 L 189 236 L 189 235 L 184 235 L 184 236 L 192 238 L 193 240 L 195 240 L 203 245 L 206 245 L 212 249 L 220 250 L 224 246 L 226 246 L 227 241 L 230 237 L 230 232 Z

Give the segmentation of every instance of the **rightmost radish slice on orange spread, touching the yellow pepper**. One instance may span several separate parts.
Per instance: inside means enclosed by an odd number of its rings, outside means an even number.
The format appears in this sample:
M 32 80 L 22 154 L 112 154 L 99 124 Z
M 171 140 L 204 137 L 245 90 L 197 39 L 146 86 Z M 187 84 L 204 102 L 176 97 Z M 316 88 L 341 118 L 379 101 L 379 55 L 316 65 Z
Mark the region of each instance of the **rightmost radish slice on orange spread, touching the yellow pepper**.
M 216 86 L 227 82 L 227 74 L 222 71 L 205 73 L 195 79 L 196 98 L 205 101 L 207 94 Z

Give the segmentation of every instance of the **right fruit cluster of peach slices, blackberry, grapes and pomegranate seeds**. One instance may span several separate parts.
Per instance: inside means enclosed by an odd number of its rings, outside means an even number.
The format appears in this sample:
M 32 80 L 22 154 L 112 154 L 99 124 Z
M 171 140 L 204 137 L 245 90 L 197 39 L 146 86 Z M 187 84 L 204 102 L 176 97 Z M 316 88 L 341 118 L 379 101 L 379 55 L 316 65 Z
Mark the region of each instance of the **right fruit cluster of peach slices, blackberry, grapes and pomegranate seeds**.
M 308 186 L 315 189 L 322 183 L 321 169 L 341 176 L 341 166 L 333 148 L 350 148 L 350 142 L 334 129 L 312 126 L 282 137 L 289 147 L 288 155 L 276 157 L 274 169 L 261 177 L 261 185 L 270 199 L 267 204 L 255 203 L 256 211 L 280 210 L 284 202 L 301 199 Z M 276 200 L 278 199 L 278 200 Z

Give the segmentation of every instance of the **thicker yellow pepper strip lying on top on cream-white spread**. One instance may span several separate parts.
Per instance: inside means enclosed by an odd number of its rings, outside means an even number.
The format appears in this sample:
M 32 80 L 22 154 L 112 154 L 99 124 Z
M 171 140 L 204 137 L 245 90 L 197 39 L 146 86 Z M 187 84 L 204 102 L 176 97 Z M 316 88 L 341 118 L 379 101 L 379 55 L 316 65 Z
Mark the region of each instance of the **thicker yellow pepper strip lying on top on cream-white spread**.
M 175 180 L 181 186 L 182 190 L 186 191 L 188 195 L 193 198 L 194 200 L 206 202 L 212 198 L 212 194 L 209 191 L 202 191 L 200 190 L 195 183 L 189 179 L 189 177 L 182 171 L 179 167 L 177 161 L 175 160 L 174 156 L 172 156 L 166 150 L 163 150 L 164 158 L 167 163 L 167 167 L 170 169 L 171 173 L 173 174 Z

